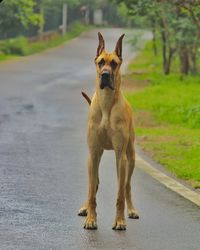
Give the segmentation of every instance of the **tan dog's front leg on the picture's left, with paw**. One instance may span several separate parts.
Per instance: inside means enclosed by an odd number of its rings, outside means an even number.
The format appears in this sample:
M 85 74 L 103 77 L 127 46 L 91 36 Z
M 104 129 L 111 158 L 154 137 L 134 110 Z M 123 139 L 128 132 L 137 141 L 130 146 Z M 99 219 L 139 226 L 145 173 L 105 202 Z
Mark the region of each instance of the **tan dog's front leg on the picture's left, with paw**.
M 98 170 L 102 153 L 103 151 L 91 152 L 88 158 L 89 190 L 87 201 L 87 217 L 84 223 L 85 229 L 97 229 L 96 192 L 99 183 Z

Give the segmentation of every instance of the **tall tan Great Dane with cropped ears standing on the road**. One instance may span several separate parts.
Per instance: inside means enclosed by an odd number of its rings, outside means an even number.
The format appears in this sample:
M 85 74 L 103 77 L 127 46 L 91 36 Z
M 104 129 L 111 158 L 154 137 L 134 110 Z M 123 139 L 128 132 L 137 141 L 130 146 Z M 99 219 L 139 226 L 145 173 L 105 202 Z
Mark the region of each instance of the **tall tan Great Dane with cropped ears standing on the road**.
M 118 39 L 112 53 L 105 51 L 105 41 L 98 32 L 96 91 L 90 98 L 82 92 L 90 105 L 87 129 L 89 147 L 88 178 L 89 190 L 87 202 L 78 212 L 87 216 L 84 228 L 97 229 L 96 193 L 99 185 L 98 169 L 104 150 L 114 150 L 117 165 L 117 201 L 114 230 L 125 230 L 125 200 L 128 217 L 138 219 L 131 197 L 131 176 L 135 167 L 134 130 L 132 109 L 121 91 L 120 66 L 122 64 L 122 40 Z

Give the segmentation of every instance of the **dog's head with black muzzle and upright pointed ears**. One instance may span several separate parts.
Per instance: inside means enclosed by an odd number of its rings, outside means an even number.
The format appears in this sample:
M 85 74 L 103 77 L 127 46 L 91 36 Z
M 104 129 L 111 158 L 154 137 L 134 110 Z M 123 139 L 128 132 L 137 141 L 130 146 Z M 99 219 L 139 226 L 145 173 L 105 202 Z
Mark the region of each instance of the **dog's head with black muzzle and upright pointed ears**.
M 98 32 L 99 45 L 95 58 L 97 68 L 97 77 L 99 79 L 100 89 L 106 87 L 114 90 L 115 80 L 119 74 L 119 69 L 122 64 L 122 39 L 124 34 L 120 36 L 112 53 L 105 51 L 105 41 L 100 32 Z

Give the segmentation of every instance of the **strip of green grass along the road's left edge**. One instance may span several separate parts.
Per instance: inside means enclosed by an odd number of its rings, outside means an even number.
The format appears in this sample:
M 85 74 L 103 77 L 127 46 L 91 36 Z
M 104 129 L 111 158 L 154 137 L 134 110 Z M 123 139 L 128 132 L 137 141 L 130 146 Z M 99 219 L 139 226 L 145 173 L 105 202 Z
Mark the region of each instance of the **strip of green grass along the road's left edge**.
M 91 27 L 85 26 L 79 22 L 74 23 L 65 36 L 55 35 L 48 41 L 28 42 L 25 37 L 17 37 L 14 39 L 8 39 L 0 41 L 0 61 L 4 61 L 16 56 L 26 56 L 34 53 L 41 52 L 45 49 L 56 47 L 64 42 L 71 40 L 74 37 L 80 35 L 83 31 L 90 29 Z

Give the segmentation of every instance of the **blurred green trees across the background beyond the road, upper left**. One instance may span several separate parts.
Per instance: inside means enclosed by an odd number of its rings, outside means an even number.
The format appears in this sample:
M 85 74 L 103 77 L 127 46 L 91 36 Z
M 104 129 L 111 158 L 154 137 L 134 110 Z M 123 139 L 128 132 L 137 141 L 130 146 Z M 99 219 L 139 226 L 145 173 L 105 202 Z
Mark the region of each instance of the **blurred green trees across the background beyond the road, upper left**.
M 75 21 L 93 24 L 93 12 L 99 8 L 103 10 L 105 25 L 127 23 L 109 0 L 4 0 L 0 4 L 0 39 L 41 37 L 45 31 L 62 29 L 64 4 L 67 28 Z

